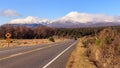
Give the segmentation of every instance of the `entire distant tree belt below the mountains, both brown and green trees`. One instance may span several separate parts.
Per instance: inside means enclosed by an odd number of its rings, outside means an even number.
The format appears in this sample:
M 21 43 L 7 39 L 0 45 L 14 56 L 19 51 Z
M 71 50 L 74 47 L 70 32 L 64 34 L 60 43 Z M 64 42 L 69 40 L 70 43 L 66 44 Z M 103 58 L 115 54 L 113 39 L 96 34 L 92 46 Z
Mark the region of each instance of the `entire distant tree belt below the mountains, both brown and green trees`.
M 3 25 L 0 27 L 0 38 L 5 38 L 6 33 L 11 33 L 13 39 L 40 39 L 51 36 L 65 38 L 79 38 L 86 35 L 98 34 L 106 27 L 86 27 L 86 28 L 51 28 L 40 26 L 30 28 L 25 26 Z M 112 27 L 120 32 L 120 27 Z

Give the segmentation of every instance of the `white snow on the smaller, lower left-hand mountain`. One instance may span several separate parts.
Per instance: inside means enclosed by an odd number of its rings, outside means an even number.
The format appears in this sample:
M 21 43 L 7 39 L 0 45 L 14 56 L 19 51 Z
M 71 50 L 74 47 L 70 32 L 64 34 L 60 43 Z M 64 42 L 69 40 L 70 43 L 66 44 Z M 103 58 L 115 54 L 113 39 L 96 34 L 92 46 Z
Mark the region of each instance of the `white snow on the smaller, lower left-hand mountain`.
M 42 19 L 38 17 L 28 16 L 26 18 L 14 19 L 8 22 L 8 24 L 48 24 L 50 20 Z

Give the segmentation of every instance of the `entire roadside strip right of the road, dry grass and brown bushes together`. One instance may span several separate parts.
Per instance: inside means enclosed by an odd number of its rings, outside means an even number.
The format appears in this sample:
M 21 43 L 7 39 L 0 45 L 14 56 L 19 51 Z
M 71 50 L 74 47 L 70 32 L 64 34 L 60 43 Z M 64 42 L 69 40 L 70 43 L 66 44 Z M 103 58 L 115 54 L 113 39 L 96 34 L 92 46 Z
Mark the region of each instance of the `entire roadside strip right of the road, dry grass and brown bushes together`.
M 106 28 L 98 34 L 84 36 L 80 40 L 66 68 L 120 67 L 119 29 Z

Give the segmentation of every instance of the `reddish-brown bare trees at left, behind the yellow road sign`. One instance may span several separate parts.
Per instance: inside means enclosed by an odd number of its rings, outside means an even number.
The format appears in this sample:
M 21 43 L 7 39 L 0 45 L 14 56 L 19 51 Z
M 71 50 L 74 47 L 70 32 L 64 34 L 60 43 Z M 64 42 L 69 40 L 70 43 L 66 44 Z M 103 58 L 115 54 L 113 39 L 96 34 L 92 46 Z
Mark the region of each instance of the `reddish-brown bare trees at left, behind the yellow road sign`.
M 29 28 L 25 26 L 3 25 L 0 27 L 0 38 L 5 38 L 6 33 L 11 33 L 13 39 L 39 39 L 49 38 L 54 35 L 55 29 L 50 27 Z

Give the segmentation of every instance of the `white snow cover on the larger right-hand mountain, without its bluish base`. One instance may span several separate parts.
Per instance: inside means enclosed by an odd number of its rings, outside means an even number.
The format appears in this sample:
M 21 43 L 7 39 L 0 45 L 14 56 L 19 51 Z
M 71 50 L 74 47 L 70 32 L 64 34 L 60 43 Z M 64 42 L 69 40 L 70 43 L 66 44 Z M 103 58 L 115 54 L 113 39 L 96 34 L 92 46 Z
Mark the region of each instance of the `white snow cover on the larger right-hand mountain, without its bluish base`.
M 98 23 L 98 22 L 120 22 L 119 16 L 110 16 L 105 14 L 88 14 L 79 12 L 70 12 L 66 16 L 56 19 L 53 22 L 73 21 L 79 23 Z

